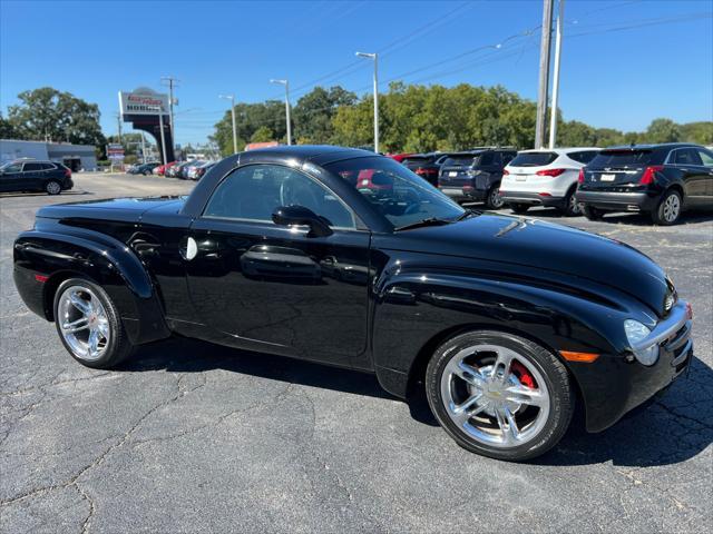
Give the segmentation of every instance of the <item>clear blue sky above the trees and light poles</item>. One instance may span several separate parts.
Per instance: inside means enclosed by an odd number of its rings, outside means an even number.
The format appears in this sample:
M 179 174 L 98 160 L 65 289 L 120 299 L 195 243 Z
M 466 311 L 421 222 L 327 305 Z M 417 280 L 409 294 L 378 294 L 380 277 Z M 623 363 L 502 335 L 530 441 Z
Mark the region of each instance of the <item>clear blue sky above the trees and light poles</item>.
M 116 132 L 117 91 L 176 90 L 176 140 L 202 142 L 234 92 L 292 101 L 318 85 L 370 90 L 406 82 L 500 83 L 537 97 L 540 0 L 94 1 L 0 0 L 0 109 L 52 86 L 99 105 Z M 623 130 L 652 119 L 713 120 L 713 0 L 567 0 L 559 106 L 566 119 Z M 529 31 L 528 31 L 529 30 Z M 501 44 L 500 48 L 494 48 Z M 402 76 L 407 75 L 408 76 Z M 331 77 L 326 77 L 332 75 Z M 325 78 L 326 77 L 326 78 Z M 127 125 L 128 127 L 128 125 Z

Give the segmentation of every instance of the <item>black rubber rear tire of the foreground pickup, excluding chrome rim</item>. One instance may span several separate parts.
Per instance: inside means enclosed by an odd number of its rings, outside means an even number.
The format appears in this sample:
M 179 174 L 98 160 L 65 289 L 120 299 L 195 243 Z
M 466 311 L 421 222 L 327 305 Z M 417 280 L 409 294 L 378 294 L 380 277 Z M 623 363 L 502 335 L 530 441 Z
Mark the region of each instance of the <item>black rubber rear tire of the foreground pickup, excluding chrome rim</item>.
M 91 289 L 91 291 L 99 298 L 99 300 L 101 301 L 101 305 L 104 306 L 104 309 L 107 313 L 107 318 L 109 320 L 109 328 L 110 328 L 111 335 L 109 337 L 109 346 L 107 347 L 105 353 L 101 355 L 101 357 L 98 359 L 89 362 L 89 360 L 77 357 L 75 353 L 71 350 L 71 347 L 65 340 L 65 336 L 62 336 L 62 333 L 59 326 L 59 316 L 57 313 L 58 312 L 57 308 L 58 308 L 59 298 L 61 294 L 65 291 L 65 289 L 67 289 L 70 286 L 84 286 Z M 123 360 L 126 356 L 128 356 L 128 353 L 130 352 L 130 343 L 126 337 L 126 333 L 124 330 L 121 319 L 119 318 L 118 310 L 114 306 L 114 303 L 111 301 L 107 293 L 99 285 L 95 284 L 88 278 L 76 277 L 76 278 L 68 278 L 65 281 L 62 281 L 57 288 L 57 291 L 55 293 L 52 312 L 55 316 L 55 327 L 57 328 L 57 334 L 59 335 L 59 339 L 62 342 L 62 345 L 65 346 L 69 355 L 72 358 L 75 358 L 77 362 L 79 362 L 81 365 L 86 367 L 97 368 L 97 369 L 106 369 L 106 368 L 113 367 L 114 365 Z

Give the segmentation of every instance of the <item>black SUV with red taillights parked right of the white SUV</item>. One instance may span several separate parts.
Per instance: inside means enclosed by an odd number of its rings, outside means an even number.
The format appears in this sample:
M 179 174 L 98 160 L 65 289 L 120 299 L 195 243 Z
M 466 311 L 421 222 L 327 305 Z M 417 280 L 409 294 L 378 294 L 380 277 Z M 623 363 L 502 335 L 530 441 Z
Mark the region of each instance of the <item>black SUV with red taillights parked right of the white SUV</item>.
M 713 152 L 690 144 L 607 148 L 579 172 L 577 200 L 588 219 L 642 211 L 673 225 L 686 209 L 713 208 Z

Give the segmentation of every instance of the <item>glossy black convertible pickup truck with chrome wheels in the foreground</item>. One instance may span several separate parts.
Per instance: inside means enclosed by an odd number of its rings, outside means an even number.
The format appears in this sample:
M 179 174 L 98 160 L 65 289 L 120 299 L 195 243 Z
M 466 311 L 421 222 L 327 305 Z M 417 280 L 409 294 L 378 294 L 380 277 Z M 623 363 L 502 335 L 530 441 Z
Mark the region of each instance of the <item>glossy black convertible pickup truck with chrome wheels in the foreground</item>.
M 693 357 L 691 307 L 637 250 L 466 210 L 339 147 L 228 157 L 187 198 L 45 207 L 14 280 L 89 367 L 177 335 L 360 369 L 510 461 L 553 447 L 576 402 L 607 428 Z

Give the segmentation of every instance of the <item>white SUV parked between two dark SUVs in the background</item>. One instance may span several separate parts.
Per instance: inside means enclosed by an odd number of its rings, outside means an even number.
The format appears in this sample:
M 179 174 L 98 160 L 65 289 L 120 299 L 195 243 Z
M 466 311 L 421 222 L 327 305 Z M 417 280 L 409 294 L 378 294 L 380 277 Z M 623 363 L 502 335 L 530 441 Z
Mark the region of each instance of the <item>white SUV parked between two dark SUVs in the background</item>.
M 548 206 L 579 215 L 582 207 L 575 198 L 579 169 L 598 152 L 592 147 L 522 150 L 502 171 L 500 196 L 516 214 L 530 206 Z

